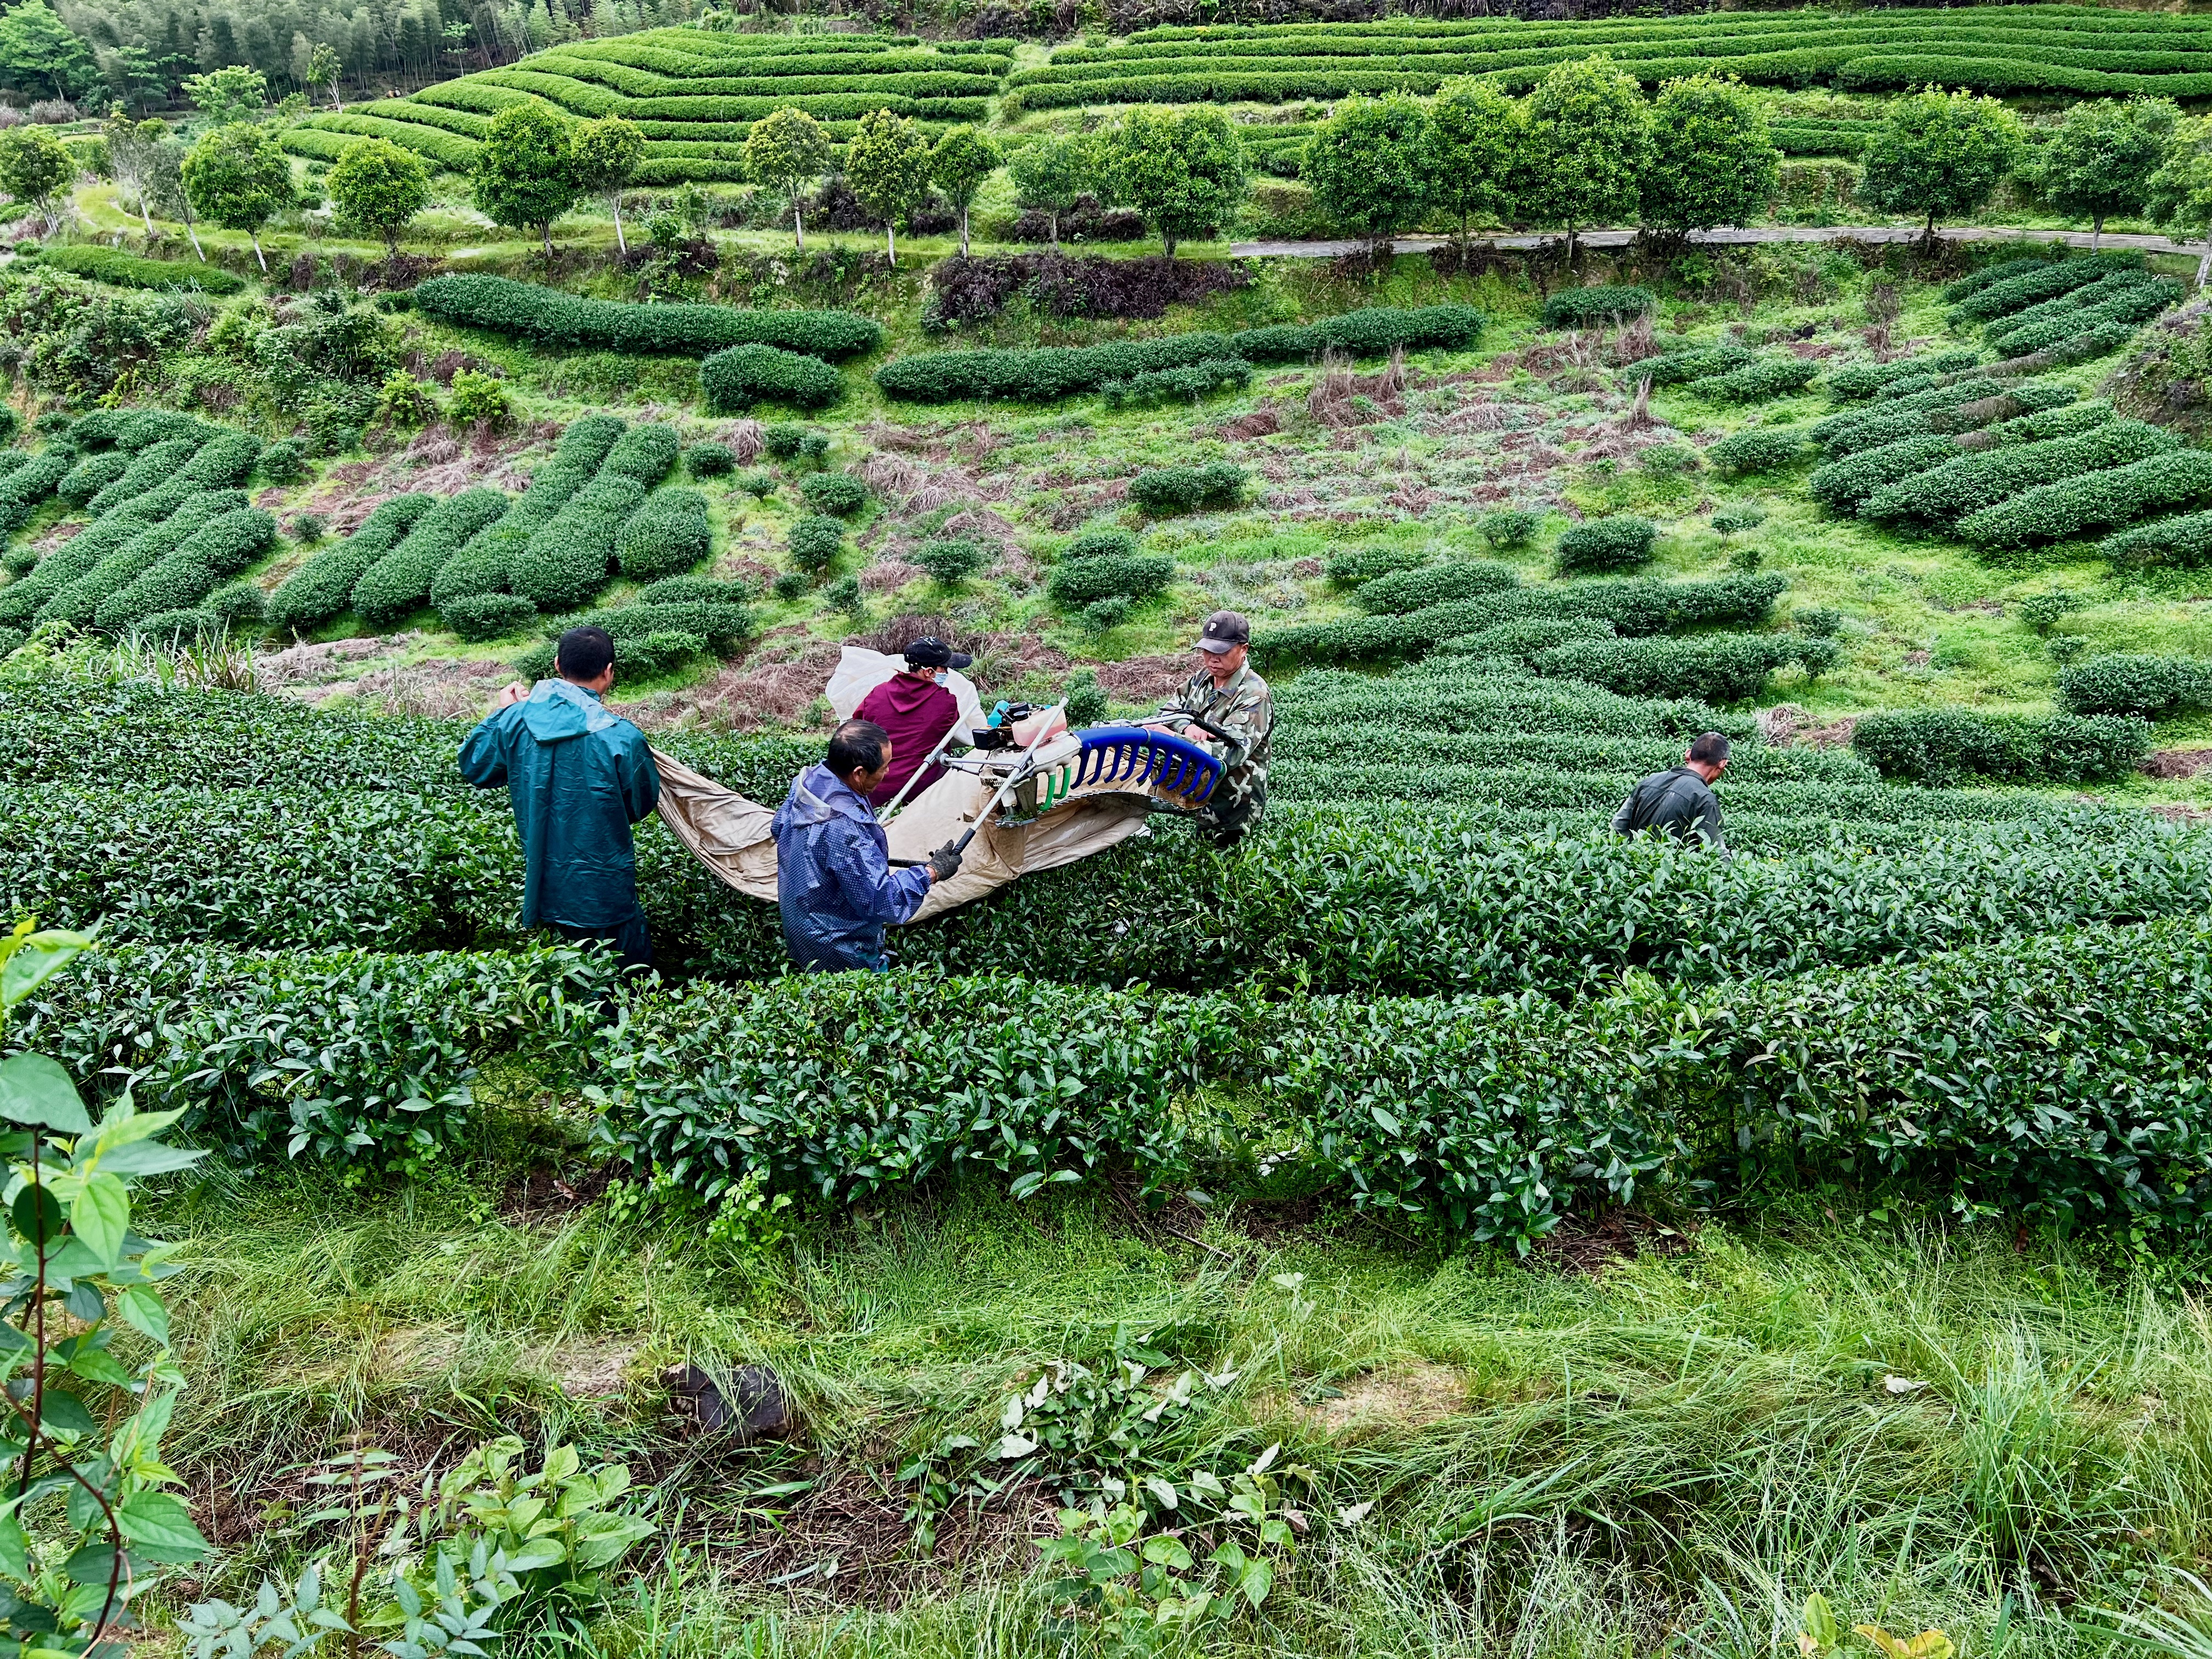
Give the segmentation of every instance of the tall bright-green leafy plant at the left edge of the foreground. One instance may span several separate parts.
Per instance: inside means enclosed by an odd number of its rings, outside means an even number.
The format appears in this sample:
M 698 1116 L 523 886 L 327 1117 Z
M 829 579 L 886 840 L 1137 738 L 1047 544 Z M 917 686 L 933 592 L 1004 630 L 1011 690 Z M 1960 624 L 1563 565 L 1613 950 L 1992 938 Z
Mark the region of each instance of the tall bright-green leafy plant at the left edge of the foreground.
M 91 947 L 82 933 L 0 938 L 0 1020 Z M 0 1650 L 126 1652 L 128 1604 L 159 1566 L 208 1544 L 161 1462 L 184 1376 L 168 1354 L 155 1285 L 177 1272 L 170 1245 L 131 1230 L 139 1177 L 199 1152 L 155 1139 L 177 1113 L 139 1113 L 124 1093 L 95 1128 L 69 1073 L 49 1055 L 0 1060 L 0 1130 L 9 1179 L 0 1237 Z M 153 1343 L 126 1363 L 115 1321 Z M 102 1427 L 106 1422 L 106 1427 Z

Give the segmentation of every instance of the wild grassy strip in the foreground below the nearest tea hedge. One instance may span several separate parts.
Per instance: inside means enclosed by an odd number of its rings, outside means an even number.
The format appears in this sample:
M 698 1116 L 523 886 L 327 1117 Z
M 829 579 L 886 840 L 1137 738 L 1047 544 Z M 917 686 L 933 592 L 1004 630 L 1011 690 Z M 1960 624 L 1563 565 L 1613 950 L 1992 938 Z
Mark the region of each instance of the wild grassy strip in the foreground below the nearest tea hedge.
M 1091 1652 L 1051 1639 L 1026 1577 L 1048 1520 L 949 1515 L 920 1557 L 896 1469 L 951 1431 L 989 1440 L 1046 1360 L 1144 1332 L 1237 1369 L 1146 1469 L 1228 1473 L 1281 1442 L 1318 1471 L 1285 1590 L 1192 1652 L 1770 1652 L 1812 1588 L 1971 1650 L 2004 1617 L 2093 1650 L 2064 1606 L 2135 1599 L 2212 1500 L 2192 1310 L 1989 1232 L 1809 1203 L 1584 1276 L 1343 1223 L 1183 1221 L 1199 1248 L 1082 1197 L 949 1194 L 763 1259 L 515 1223 L 498 1192 L 489 1164 L 398 1203 L 272 1175 L 159 1217 L 195 1263 L 179 1444 L 234 1548 L 226 1588 L 316 1537 L 268 1509 L 301 1460 L 363 1429 L 411 1469 L 504 1425 L 628 1458 L 684 1504 L 684 1548 L 604 1615 L 602 1652 Z M 686 1356 L 776 1365 L 812 1444 L 672 1444 L 641 1385 Z M 750 1495 L 787 1480 L 814 1486 Z

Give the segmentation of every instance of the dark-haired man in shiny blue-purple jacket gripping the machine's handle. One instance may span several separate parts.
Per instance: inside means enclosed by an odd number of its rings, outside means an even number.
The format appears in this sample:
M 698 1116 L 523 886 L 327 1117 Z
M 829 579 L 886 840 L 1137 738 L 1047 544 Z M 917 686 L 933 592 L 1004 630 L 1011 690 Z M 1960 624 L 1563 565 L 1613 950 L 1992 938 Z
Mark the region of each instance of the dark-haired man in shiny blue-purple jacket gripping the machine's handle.
M 960 869 L 945 843 L 929 863 L 891 869 L 889 843 L 867 796 L 891 770 L 891 739 L 874 721 L 845 721 L 830 754 L 792 781 L 776 812 L 776 902 L 783 949 L 805 971 L 880 973 L 883 929 L 914 920 L 931 883 Z

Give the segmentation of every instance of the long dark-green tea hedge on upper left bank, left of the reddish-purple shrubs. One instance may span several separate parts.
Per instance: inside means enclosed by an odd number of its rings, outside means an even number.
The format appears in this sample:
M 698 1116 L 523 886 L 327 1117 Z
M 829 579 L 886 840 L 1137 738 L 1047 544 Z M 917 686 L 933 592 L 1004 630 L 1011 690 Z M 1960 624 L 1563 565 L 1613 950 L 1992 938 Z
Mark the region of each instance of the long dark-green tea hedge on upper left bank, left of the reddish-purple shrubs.
M 566 352 L 679 352 L 772 345 L 838 361 L 883 345 L 883 325 L 854 312 L 741 312 L 732 305 L 626 305 L 580 299 L 507 276 L 431 276 L 414 288 L 427 316 Z

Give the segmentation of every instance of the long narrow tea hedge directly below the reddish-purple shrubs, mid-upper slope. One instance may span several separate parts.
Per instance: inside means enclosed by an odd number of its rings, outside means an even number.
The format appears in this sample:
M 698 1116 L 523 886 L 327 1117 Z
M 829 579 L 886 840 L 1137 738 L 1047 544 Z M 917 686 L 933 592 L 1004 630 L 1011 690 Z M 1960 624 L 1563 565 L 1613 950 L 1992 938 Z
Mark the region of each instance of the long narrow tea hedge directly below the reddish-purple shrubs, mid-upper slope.
M 1079 392 L 1097 392 L 1108 380 L 1183 369 L 1197 363 L 1241 358 L 1245 363 L 1292 363 L 1327 349 L 1380 356 L 1391 347 L 1471 345 L 1482 334 L 1482 314 L 1467 305 L 1396 310 L 1378 305 L 1345 312 L 1312 325 L 1254 327 L 1241 334 L 1168 334 L 1155 341 L 1113 341 L 1037 349 L 929 352 L 898 358 L 876 369 L 885 396 L 914 403 L 962 398 L 1011 398 L 1051 403 Z

